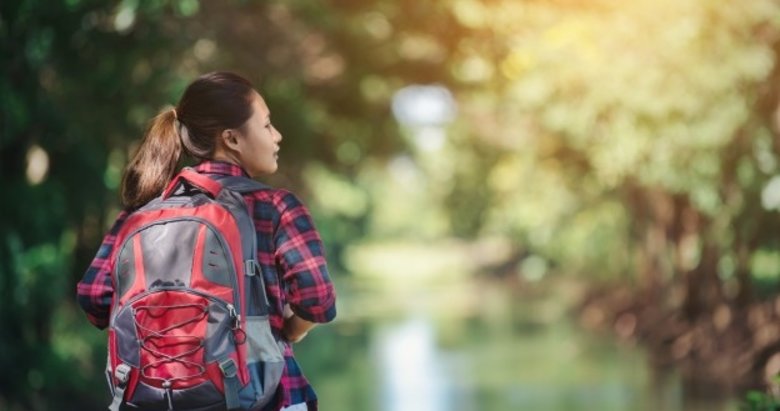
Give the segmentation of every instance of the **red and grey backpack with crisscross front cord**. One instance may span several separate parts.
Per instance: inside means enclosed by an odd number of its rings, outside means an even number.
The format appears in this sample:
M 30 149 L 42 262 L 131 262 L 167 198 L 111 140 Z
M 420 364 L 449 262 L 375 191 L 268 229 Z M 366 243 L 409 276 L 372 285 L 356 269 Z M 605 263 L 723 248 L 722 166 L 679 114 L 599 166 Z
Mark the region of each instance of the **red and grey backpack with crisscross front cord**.
M 111 258 L 109 410 L 259 410 L 284 348 L 271 331 L 246 177 L 183 169 L 134 211 Z

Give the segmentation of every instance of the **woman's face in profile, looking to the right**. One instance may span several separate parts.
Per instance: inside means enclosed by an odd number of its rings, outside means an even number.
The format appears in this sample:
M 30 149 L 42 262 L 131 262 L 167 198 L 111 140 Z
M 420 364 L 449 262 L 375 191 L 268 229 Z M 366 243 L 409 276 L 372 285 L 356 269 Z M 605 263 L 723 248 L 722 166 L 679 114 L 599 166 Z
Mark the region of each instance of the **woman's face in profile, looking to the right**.
M 276 171 L 282 135 L 271 124 L 271 112 L 260 94 L 254 93 L 252 117 L 236 130 L 238 160 L 251 177 Z

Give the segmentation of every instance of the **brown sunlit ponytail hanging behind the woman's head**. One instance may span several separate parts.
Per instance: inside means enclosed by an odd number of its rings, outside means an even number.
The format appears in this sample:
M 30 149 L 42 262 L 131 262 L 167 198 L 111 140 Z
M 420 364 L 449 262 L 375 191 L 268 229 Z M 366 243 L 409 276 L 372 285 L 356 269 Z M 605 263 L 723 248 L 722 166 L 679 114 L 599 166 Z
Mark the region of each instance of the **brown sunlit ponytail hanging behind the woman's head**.
M 158 114 L 146 132 L 141 146 L 122 176 L 122 204 L 138 208 L 162 193 L 173 178 L 182 152 L 176 111 Z

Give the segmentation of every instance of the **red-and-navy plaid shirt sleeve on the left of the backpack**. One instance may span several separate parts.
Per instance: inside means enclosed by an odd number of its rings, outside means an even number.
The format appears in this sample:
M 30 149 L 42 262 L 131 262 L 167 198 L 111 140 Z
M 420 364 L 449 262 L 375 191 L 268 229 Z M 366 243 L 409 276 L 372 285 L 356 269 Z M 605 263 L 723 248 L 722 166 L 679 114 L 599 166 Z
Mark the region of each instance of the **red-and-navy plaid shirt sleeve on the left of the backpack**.
M 127 211 L 119 213 L 113 227 L 103 238 L 97 255 L 76 287 L 79 305 L 87 314 L 89 322 L 101 330 L 108 326 L 108 316 L 114 294 L 111 282 L 111 269 L 113 268 L 111 254 L 114 251 L 116 235 L 128 215 Z

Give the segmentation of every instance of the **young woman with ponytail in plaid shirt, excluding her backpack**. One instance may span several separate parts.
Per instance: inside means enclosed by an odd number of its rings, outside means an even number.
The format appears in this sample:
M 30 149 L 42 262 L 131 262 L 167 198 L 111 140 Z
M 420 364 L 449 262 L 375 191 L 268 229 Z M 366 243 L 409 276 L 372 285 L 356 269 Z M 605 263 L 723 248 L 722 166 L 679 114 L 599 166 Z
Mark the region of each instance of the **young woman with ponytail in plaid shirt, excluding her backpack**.
M 122 179 L 125 209 L 103 239 L 78 284 L 78 301 L 90 322 L 103 329 L 114 289 L 111 271 L 116 234 L 135 209 L 159 196 L 176 173 L 183 153 L 200 160 L 206 175 L 257 177 L 277 169 L 282 135 L 271 124 L 263 98 L 246 79 L 214 72 L 196 79 L 175 108 L 153 120 Z M 245 195 L 253 210 L 257 261 L 270 303 L 270 323 L 283 341 L 285 369 L 274 399 L 264 410 L 316 410 L 317 397 L 303 376 L 291 343 L 316 323 L 336 315 L 335 292 L 323 246 L 306 207 L 288 191 L 266 189 Z

